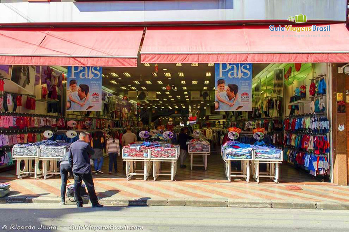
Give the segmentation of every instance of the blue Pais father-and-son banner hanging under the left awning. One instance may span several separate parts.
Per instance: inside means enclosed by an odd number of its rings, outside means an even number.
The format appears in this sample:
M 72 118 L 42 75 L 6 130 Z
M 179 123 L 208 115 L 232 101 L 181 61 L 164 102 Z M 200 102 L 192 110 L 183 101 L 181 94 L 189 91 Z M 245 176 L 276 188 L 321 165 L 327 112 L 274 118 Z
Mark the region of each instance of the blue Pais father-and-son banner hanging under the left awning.
M 66 109 L 102 110 L 102 67 L 68 66 Z

